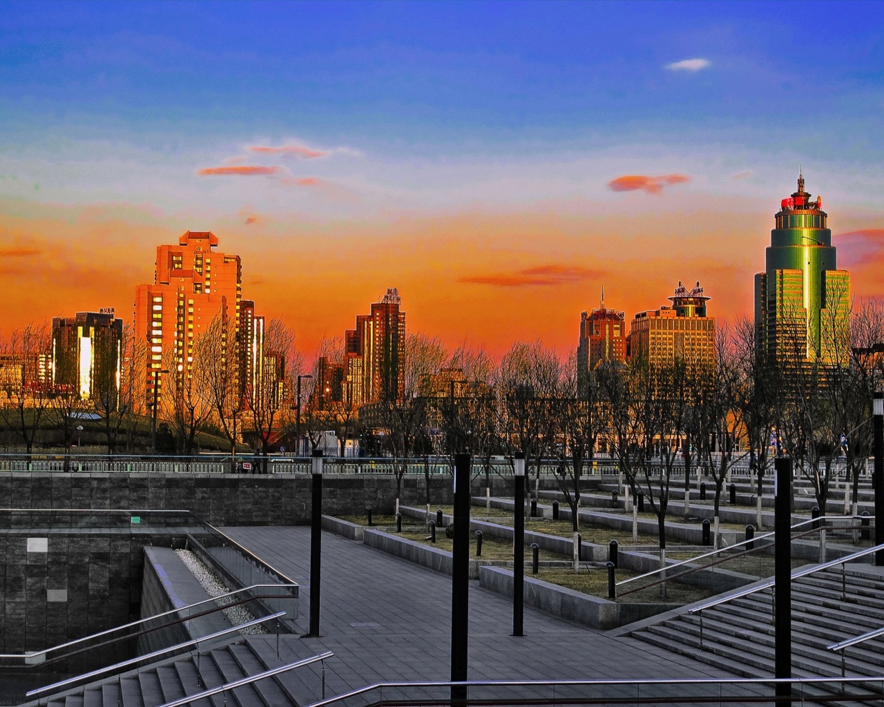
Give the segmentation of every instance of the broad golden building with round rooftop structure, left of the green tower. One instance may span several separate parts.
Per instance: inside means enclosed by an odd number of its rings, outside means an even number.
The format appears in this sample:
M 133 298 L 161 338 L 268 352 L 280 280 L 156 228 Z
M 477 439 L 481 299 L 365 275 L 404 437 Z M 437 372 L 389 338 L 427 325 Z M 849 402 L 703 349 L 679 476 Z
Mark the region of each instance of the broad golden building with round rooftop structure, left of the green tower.
M 629 357 L 652 367 L 676 360 L 691 366 L 713 368 L 715 317 L 706 315 L 706 297 L 697 282 L 693 290 L 679 282 L 669 300 L 672 306 L 639 312 L 629 331 Z

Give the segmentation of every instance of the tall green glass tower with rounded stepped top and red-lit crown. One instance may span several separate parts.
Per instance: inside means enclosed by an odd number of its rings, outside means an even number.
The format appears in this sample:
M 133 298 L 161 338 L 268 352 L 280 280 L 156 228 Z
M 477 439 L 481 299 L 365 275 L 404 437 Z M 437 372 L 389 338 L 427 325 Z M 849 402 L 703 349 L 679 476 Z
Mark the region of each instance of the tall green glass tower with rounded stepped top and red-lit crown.
M 850 273 L 837 269 L 827 217 L 799 175 L 798 190 L 776 214 L 765 271 L 755 276 L 758 346 L 789 368 L 848 360 Z

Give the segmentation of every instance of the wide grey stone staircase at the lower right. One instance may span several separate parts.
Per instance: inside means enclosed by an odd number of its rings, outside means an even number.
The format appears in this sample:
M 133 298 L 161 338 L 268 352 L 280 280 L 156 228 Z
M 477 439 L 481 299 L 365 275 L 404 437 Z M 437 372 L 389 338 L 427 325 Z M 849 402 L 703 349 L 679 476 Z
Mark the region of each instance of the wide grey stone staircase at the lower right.
M 884 568 L 847 566 L 847 597 L 840 568 L 792 582 L 792 674 L 841 677 L 840 653 L 826 646 L 884 626 Z M 699 614 L 644 621 L 629 635 L 743 677 L 773 677 L 773 597 L 770 589 L 719 604 Z M 884 640 L 849 648 L 846 675 L 884 673 Z

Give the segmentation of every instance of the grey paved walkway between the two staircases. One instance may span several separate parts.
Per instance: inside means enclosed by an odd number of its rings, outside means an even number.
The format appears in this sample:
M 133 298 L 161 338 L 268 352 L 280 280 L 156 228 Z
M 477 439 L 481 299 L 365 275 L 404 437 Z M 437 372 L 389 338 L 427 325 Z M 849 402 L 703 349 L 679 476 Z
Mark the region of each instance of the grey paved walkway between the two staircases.
M 224 530 L 301 584 L 298 625 L 307 633 L 310 529 Z M 330 696 L 378 681 L 448 680 L 451 583 L 444 574 L 324 532 L 321 637 L 286 641 L 286 647 L 298 657 L 335 653 L 326 665 Z M 470 680 L 733 677 L 674 651 L 529 607 L 525 635 L 514 637 L 512 615 L 511 600 L 470 583 Z M 301 682 L 310 689 L 318 684 Z

